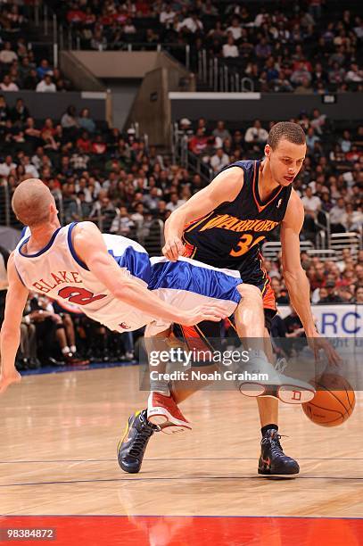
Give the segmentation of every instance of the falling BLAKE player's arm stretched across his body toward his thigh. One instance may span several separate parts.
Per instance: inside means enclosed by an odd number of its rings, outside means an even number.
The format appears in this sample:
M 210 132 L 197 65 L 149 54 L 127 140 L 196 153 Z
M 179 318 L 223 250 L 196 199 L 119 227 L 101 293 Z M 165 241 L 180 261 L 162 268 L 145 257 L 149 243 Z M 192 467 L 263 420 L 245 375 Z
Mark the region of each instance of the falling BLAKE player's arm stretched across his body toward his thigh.
M 221 304 L 181 311 L 163 302 L 151 290 L 130 277 L 128 271 L 120 269 L 107 252 L 100 230 L 92 222 L 80 222 L 75 227 L 73 245 L 78 257 L 115 298 L 132 305 L 146 315 L 186 326 L 193 326 L 202 320 L 218 321 L 226 317 L 226 310 Z

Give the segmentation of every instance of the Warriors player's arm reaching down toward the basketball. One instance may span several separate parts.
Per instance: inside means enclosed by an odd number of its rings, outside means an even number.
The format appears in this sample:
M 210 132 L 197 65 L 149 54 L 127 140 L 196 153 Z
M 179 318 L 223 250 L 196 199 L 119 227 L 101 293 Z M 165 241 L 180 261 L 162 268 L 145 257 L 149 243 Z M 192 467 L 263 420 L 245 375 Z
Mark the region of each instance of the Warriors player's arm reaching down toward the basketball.
M 300 232 L 304 221 L 304 208 L 299 196 L 293 191 L 287 206 L 285 219 L 281 224 L 282 262 L 285 285 L 293 309 L 301 318 L 309 344 L 318 358 L 318 350 L 323 349 L 331 363 L 337 363 L 339 356 L 334 348 L 320 337 L 315 327 L 310 305 L 310 285 L 301 267 Z

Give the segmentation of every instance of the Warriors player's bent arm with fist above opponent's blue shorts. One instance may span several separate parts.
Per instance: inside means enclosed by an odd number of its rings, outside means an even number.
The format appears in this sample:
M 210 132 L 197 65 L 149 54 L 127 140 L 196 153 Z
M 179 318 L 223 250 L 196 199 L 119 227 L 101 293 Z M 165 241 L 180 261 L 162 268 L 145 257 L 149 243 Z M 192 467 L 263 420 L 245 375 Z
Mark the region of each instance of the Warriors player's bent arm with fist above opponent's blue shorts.
M 209 186 L 172 212 L 165 222 L 165 245 L 162 249 L 164 256 L 171 261 L 182 256 L 185 252 L 182 235 L 186 225 L 214 211 L 221 203 L 234 201 L 242 187 L 243 170 L 240 167 L 231 167 L 220 172 Z

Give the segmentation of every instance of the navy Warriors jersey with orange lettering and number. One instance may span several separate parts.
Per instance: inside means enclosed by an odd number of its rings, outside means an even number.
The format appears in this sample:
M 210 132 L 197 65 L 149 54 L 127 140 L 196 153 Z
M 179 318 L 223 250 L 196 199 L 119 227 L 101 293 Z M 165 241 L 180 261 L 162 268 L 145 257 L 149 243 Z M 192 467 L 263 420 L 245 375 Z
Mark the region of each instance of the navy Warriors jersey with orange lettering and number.
M 258 265 L 260 246 L 285 217 L 292 186 L 279 186 L 262 202 L 260 161 L 235 161 L 226 167 L 243 169 L 243 188 L 232 202 L 221 203 L 183 233 L 187 255 L 214 267 L 238 269 L 247 280 Z

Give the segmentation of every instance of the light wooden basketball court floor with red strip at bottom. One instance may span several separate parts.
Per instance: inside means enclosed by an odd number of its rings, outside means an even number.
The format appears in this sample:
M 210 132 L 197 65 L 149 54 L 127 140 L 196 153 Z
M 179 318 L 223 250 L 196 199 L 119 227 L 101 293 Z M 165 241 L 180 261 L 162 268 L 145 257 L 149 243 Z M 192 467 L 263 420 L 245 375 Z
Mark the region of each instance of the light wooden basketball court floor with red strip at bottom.
M 280 405 L 296 478 L 257 474 L 257 404 L 232 391 L 184 402 L 193 431 L 154 434 L 141 472 L 123 473 L 116 446 L 146 397 L 136 366 L 25 376 L 4 393 L 0 529 L 51 527 L 67 545 L 363 544 L 361 393 L 330 428 Z

